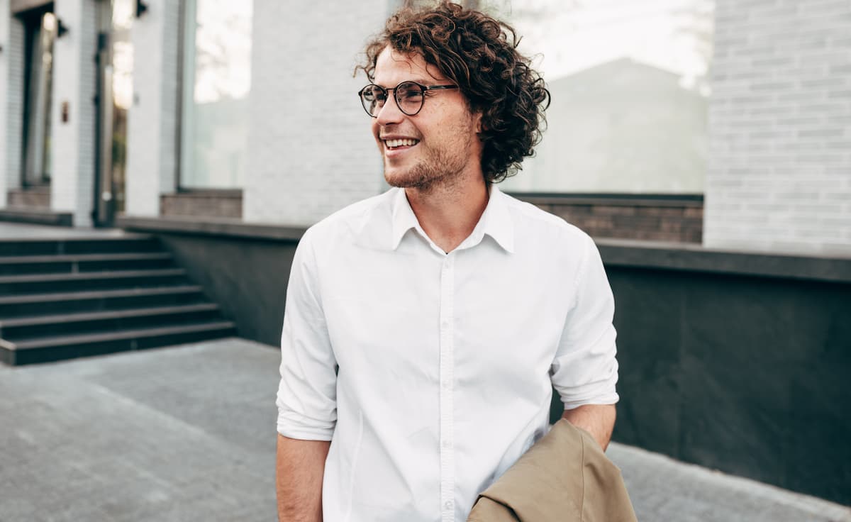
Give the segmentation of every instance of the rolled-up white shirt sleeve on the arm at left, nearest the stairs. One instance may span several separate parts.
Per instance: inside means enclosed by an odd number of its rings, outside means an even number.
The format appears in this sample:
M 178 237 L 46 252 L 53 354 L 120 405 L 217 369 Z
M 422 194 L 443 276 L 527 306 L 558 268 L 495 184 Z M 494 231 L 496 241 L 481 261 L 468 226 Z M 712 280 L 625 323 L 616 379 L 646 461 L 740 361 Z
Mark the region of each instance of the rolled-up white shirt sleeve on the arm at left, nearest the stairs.
M 281 336 L 277 432 L 330 440 L 337 421 L 336 359 L 325 323 L 311 230 L 295 250 Z

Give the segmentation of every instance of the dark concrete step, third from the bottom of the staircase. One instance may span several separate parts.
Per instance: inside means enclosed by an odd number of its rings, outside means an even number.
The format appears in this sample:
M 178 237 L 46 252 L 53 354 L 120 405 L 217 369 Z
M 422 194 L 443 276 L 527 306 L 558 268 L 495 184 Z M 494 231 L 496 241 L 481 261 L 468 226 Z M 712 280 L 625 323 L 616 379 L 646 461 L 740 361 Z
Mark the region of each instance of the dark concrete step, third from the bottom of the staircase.
M 196 284 L 163 288 L 91 290 L 31 295 L 0 296 L 0 318 L 20 318 L 140 307 L 167 307 L 204 301 Z

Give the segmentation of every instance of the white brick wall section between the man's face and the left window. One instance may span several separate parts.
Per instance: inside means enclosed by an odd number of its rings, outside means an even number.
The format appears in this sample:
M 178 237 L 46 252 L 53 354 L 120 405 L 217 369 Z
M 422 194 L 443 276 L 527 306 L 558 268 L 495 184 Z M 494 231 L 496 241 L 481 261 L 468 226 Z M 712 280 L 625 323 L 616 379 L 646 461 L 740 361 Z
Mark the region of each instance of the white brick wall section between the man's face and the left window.
M 381 190 L 351 77 L 387 0 L 254 3 L 245 221 L 310 225 Z

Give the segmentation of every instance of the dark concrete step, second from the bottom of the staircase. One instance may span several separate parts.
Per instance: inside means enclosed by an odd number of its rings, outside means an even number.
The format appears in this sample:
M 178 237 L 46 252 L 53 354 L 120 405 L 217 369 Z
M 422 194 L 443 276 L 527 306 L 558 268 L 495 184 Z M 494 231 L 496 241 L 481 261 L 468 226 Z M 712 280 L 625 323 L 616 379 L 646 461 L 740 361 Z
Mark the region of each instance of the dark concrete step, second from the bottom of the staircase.
M 149 326 L 203 323 L 216 319 L 220 319 L 219 307 L 210 302 L 177 307 L 63 313 L 0 320 L 0 338 L 16 342 L 48 336 L 106 333 L 119 330 L 137 330 Z

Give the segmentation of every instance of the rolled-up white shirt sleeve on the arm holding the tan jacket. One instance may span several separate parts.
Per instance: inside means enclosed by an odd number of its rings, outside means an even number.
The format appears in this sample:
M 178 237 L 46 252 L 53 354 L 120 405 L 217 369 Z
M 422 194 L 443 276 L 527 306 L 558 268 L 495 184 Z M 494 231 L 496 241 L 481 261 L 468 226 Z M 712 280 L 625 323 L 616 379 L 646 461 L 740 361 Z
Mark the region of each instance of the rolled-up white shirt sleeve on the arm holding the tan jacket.
M 583 404 L 618 402 L 615 383 L 614 296 L 593 240 L 584 236 L 581 261 L 573 288 L 564 330 L 551 365 L 553 387 L 565 410 Z

